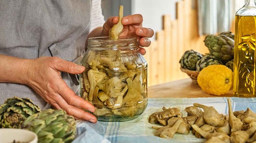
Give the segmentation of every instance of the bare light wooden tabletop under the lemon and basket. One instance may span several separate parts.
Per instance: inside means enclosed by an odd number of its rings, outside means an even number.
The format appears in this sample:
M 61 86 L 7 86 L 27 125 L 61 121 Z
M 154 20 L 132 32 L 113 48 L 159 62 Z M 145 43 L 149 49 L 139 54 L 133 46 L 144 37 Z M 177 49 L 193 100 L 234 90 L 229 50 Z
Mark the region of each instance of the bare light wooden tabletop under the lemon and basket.
M 190 78 L 148 87 L 148 98 L 197 98 L 197 97 L 232 97 L 232 89 L 225 95 L 216 96 L 204 92 Z

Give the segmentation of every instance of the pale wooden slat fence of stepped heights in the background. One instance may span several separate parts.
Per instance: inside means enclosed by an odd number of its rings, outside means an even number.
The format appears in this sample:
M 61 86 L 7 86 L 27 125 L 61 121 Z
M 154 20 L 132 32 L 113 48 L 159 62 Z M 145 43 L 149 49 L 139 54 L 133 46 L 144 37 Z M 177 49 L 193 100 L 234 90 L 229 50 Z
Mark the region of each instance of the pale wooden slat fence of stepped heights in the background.
M 175 20 L 171 20 L 171 15 L 163 16 L 163 29 L 155 31 L 156 40 L 146 48 L 144 58 L 148 63 L 148 86 L 188 78 L 181 72 L 179 63 L 185 51 L 209 52 L 203 42 L 205 36 L 198 34 L 196 1 L 177 2 L 176 13 Z

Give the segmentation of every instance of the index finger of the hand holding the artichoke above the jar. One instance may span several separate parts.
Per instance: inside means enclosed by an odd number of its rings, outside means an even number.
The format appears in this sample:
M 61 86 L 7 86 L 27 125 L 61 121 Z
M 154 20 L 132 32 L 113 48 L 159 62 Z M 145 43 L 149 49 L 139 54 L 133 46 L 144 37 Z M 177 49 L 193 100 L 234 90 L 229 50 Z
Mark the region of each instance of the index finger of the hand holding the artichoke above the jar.
M 122 24 L 123 25 L 129 25 L 129 24 L 139 24 L 142 26 L 142 15 L 140 14 L 134 14 L 134 15 L 128 15 L 122 18 Z

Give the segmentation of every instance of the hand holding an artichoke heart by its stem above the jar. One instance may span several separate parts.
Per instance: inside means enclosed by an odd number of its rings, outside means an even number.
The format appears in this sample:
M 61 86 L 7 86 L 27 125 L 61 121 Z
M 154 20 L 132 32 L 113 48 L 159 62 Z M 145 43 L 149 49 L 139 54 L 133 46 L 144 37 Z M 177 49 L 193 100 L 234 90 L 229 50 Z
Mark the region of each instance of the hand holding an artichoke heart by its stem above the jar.
M 146 54 L 146 50 L 142 47 L 148 47 L 151 41 L 150 38 L 154 35 L 154 31 L 151 28 L 142 27 L 143 18 L 140 14 L 129 15 L 122 18 L 123 30 L 120 36 L 131 36 L 137 37 L 139 43 L 139 51 L 142 55 Z M 117 24 L 118 17 L 113 16 L 108 18 L 108 20 L 103 25 L 102 36 L 108 36 L 109 29 Z

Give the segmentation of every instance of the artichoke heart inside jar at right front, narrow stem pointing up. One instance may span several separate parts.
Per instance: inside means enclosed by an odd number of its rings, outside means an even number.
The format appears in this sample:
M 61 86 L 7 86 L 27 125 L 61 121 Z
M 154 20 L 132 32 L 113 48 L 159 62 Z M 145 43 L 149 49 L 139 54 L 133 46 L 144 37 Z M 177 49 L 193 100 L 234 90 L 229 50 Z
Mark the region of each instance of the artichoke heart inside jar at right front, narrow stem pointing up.
M 125 106 L 132 106 L 135 103 L 138 103 L 139 101 L 143 100 L 143 97 L 141 94 L 134 88 L 133 81 L 131 78 L 127 78 L 126 82 L 128 84 L 128 91 L 126 95 L 123 98 L 122 104 Z

